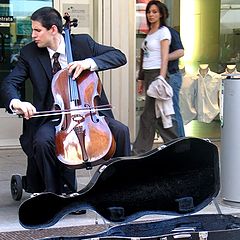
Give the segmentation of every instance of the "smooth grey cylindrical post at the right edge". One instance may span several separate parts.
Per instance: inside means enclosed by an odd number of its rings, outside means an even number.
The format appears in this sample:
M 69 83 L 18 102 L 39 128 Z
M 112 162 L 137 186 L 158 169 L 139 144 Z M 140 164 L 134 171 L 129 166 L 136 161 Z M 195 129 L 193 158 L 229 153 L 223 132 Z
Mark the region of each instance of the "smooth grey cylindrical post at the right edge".
M 240 206 L 240 76 L 224 79 L 222 90 L 221 197 Z

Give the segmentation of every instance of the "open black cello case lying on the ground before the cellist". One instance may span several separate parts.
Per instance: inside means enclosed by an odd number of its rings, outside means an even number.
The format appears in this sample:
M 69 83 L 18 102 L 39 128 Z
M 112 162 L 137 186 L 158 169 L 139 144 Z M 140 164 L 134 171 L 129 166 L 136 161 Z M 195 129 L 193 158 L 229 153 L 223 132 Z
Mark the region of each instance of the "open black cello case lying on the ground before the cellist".
M 44 228 L 72 211 L 90 209 L 115 226 L 51 239 L 240 239 L 240 218 L 197 214 L 219 190 L 217 147 L 204 139 L 179 138 L 144 155 L 106 161 L 75 195 L 40 193 L 25 200 L 19 221 L 28 229 Z M 148 214 L 171 218 L 133 222 Z

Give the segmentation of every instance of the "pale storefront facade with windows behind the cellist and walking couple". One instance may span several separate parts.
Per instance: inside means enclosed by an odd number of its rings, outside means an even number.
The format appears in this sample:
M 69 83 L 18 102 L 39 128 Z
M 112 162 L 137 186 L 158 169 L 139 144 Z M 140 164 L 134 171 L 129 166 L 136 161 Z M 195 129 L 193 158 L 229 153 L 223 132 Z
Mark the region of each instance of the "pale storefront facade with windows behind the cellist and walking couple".
M 101 74 L 116 119 L 129 126 L 134 141 L 138 118 L 144 105 L 144 97 L 136 95 L 136 75 L 139 48 L 146 33 L 144 7 L 148 0 L 3 0 L 0 3 L 0 81 L 14 67 L 19 48 L 31 41 L 31 13 L 42 6 L 54 6 L 64 13 L 78 18 L 79 25 L 73 33 L 89 33 L 106 45 L 121 49 L 128 64 Z M 199 67 L 208 67 L 221 75 L 227 66 L 240 68 L 238 0 L 165 0 L 169 8 L 168 24 L 179 30 L 185 48 L 180 68 L 190 75 L 197 75 Z M 219 88 L 220 91 L 220 88 Z M 31 87 L 28 82 L 21 91 L 29 99 Z M 184 107 L 184 106 L 183 106 Z M 218 109 L 220 111 L 220 107 Z M 217 111 L 218 111 L 217 110 Z M 0 102 L 0 147 L 19 145 L 22 120 L 5 112 Z M 189 120 L 189 119 L 188 119 Z M 195 118 L 186 124 L 186 133 L 192 135 Z M 218 128 L 219 114 L 204 126 Z M 216 123 L 217 121 L 217 123 Z M 194 123 L 194 124 L 193 124 Z M 215 129 L 215 127 L 214 127 Z M 215 131 L 215 130 L 214 130 Z M 211 134 L 210 134 L 211 135 Z M 211 136 L 209 136 L 211 138 Z

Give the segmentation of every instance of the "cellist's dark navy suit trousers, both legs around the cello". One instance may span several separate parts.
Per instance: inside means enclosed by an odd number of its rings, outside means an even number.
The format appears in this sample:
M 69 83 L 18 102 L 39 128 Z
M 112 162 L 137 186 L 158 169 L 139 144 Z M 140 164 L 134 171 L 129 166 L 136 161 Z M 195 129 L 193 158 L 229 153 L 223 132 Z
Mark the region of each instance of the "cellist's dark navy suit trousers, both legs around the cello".
M 130 155 L 128 127 L 107 118 L 109 128 L 116 141 L 114 157 Z M 55 154 L 55 125 L 48 121 L 34 135 L 33 156 L 28 157 L 26 172 L 27 192 L 53 192 L 56 194 L 77 191 L 76 171 L 66 167 Z

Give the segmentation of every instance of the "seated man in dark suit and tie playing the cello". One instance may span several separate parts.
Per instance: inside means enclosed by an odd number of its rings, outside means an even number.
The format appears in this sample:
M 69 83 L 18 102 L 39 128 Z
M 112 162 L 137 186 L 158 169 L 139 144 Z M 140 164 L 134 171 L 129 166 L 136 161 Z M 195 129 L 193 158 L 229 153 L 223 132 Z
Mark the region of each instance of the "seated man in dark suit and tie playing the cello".
M 77 190 L 75 170 L 62 164 L 55 154 L 55 123 L 52 118 L 33 118 L 36 112 L 53 108 L 51 89 L 53 55 L 59 53 L 61 68 L 67 68 L 73 79 L 84 70 L 103 71 L 126 64 L 125 55 L 118 49 L 100 45 L 87 34 L 71 36 L 73 61 L 68 63 L 62 35 L 62 17 L 51 7 L 43 7 L 31 16 L 33 41 L 20 51 L 19 61 L 1 85 L 1 95 L 8 112 L 21 114 L 23 134 L 21 146 L 28 157 L 27 192 L 63 193 L 63 177 L 70 192 Z M 20 100 L 19 90 L 30 79 L 33 102 Z M 104 90 L 98 105 L 109 104 Z M 114 157 L 130 155 L 128 127 L 115 120 L 111 110 L 100 111 L 116 141 Z

